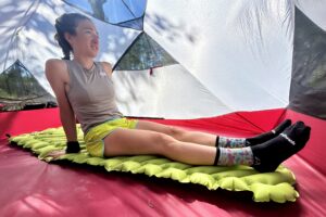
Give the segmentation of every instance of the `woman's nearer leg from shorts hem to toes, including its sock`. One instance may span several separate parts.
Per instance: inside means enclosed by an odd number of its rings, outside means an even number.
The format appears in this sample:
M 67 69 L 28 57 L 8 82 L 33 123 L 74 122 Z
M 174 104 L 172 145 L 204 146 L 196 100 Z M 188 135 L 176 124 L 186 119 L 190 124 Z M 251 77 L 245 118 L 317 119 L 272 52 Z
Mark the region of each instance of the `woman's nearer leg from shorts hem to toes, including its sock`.
M 115 129 L 104 138 L 104 156 L 159 154 L 191 165 L 250 165 L 259 171 L 274 171 L 279 164 L 304 148 L 310 138 L 302 122 L 262 144 L 240 149 L 200 145 L 178 141 L 151 130 Z M 216 161 L 215 161 L 216 158 Z

